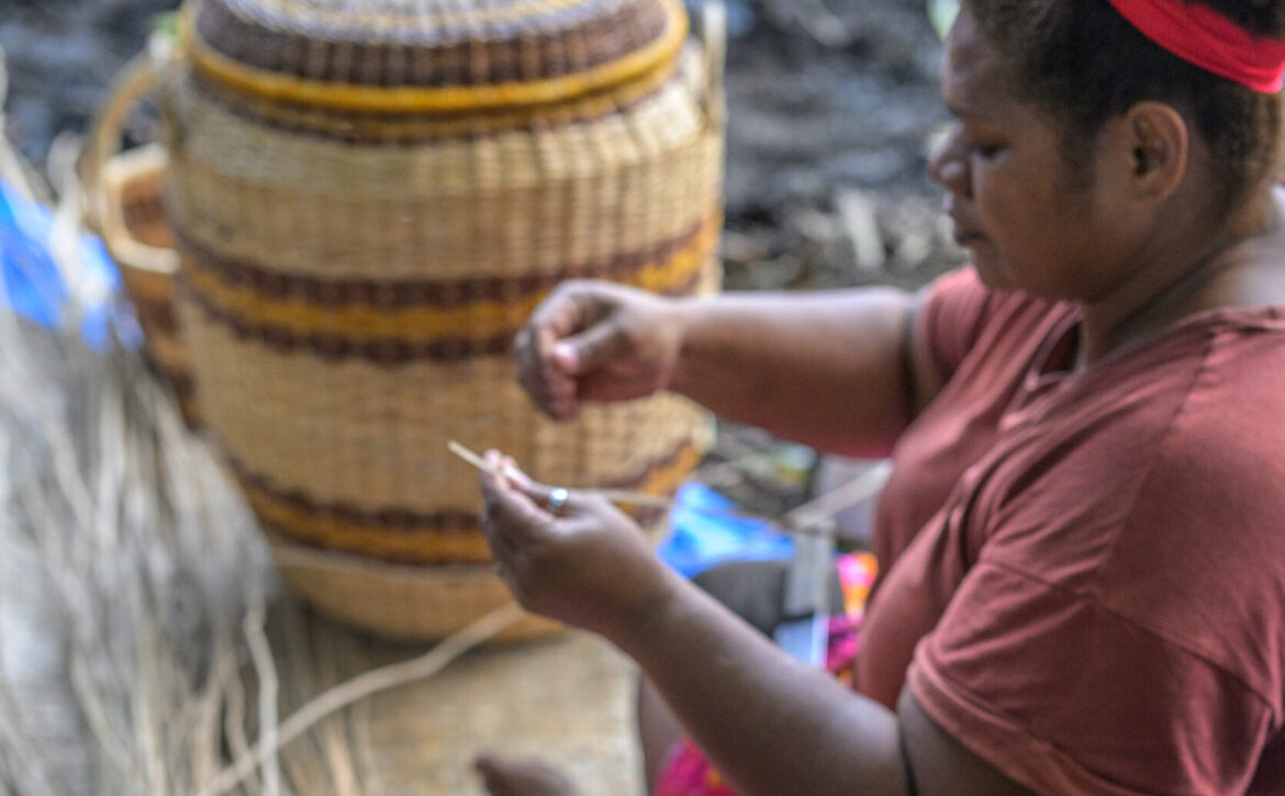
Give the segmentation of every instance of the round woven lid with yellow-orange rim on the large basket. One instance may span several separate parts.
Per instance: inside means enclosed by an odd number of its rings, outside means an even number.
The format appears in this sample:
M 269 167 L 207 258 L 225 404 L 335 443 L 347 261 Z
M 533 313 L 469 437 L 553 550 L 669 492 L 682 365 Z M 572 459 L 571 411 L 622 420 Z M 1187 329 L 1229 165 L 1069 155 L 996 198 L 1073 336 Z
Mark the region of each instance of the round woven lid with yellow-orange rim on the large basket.
M 191 0 L 195 68 L 271 100 L 373 113 L 569 100 L 666 68 L 680 0 Z

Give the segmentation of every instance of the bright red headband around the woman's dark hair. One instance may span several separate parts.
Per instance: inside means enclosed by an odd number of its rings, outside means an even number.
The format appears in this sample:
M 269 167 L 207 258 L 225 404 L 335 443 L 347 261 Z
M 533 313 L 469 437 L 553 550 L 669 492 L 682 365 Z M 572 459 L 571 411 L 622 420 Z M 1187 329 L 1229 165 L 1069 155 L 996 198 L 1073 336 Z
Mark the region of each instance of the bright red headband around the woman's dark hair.
M 1205 5 L 1180 0 L 1110 0 L 1144 36 L 1182 60 L 1254 91 L 1280 91 L 1285 40 L 1254 39 Z

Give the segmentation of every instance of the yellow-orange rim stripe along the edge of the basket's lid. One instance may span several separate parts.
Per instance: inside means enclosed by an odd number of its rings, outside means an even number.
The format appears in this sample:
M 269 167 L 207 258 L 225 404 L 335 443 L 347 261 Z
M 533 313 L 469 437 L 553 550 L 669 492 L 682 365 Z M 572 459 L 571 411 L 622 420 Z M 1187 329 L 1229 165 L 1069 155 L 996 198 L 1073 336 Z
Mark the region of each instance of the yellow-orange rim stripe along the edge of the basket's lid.
M 687 17 L 678 0 L 660 0 L 667 8 L 669 24 L 655 41 L 619 60 L 577 74 L 564 74 L 532 82 L 509 82 L 484 86 L 357 86 L 305 80 L 276 72 L 247 67 L 200 41 L 191 30 L 190 15 L 184 17 L 184 44 L 191 62 L 208 77 L 247 94 L 341 110 L 368 113 L 452 112 L 514 105 L 558 103 L 592 91 L 600 91 L 636 80 L 648 72 L 664 68 L 687 37 Z

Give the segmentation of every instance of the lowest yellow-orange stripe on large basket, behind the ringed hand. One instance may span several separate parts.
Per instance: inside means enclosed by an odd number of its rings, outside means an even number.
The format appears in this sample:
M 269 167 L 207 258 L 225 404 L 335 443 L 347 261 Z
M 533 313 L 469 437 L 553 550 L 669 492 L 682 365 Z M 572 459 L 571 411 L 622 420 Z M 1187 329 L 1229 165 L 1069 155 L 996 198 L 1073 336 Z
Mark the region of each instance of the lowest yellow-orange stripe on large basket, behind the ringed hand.
M 636 487 L 648 494 L 672 494 L 700 461 L 693 443 L 681 446 L 668 461 L 654 465 Z M 481 564 L 491 560 L 479 528 L 396 528 L 378 521 L 342 520 L 324 507 L 305 507 L 272 494 L 251 479 L 240 479 L 260 521 L 285 538 L 310 547 L 360 553 L 406 564 Z M 446 512 L 443 512 L 445 516 Z M 451 512 L 451 519 L 459 512 Z

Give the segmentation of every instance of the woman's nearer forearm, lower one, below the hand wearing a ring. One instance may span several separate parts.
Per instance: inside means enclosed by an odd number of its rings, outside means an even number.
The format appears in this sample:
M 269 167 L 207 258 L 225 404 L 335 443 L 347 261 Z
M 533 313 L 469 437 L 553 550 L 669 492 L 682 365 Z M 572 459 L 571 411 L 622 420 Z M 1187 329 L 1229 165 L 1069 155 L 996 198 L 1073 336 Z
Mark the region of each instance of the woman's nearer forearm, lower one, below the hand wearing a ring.
M 669 574 L 667 596 L 613 641 L 747 796 L 908 792 L 896 714 L 803 665 Z

